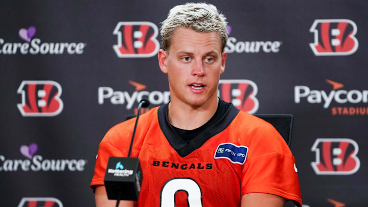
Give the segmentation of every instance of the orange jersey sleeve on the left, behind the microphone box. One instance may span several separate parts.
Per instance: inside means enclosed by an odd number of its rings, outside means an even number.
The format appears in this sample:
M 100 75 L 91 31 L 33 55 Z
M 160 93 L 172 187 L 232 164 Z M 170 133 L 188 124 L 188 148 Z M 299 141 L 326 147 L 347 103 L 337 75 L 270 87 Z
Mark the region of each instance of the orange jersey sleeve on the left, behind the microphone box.
M 97 186 L 105 185 L 104 177 L 108 158 L 127 156 L 130 144 L 128 134 L 131 134 L 127 131 L 129 129 L 122 130 L 121 127 L 112 127 L 101 141 L 96 158 L 95 174 L 90 183 L 94 192 Z

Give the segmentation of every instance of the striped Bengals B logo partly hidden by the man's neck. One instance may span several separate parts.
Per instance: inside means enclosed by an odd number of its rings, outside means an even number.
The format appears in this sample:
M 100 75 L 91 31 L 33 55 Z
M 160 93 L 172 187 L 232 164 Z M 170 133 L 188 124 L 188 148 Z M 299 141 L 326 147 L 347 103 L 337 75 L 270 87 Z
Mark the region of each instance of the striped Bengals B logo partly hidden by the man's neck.
M 255 113 L 259 102 L 256 98 L 258 87 L 251 80 L 220 80 L 218 96 L 225 102 L 232 103 L 238 109 Z

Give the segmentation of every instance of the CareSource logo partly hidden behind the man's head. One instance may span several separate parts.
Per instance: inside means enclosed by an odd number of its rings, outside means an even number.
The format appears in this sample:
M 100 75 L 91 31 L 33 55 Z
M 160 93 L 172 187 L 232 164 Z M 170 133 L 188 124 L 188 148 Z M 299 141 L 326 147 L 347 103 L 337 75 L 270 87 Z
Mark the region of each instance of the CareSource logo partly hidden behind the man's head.
M 228 35 L 232 30 L 231 26 L 226 26 Z M 224 51 L 226 53 L 278 53 L 281 44 L 281 41 L 238 41 L 235 37 L 228 37 Z

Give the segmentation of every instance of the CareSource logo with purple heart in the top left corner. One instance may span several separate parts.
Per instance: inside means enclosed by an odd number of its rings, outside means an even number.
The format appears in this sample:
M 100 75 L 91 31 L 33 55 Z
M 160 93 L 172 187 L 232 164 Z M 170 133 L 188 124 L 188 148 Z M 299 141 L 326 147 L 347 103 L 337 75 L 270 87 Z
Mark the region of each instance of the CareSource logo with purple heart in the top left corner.
M 19 37 L 26 42 L 5 42 L 3 38 L 0 38 L 0 54 L 15 55 L 18 52 L 22 55 L 25 54 L 55 54 L 61 55 L 64 53 L 82 54 L 83 49 L 86 47 L 86 43 L 83 42 L 41 42 L 41 39 L 32 37 L 36 34 L 36 28 L 31 26 L 28 29 L 21 28 L 18 32 Z

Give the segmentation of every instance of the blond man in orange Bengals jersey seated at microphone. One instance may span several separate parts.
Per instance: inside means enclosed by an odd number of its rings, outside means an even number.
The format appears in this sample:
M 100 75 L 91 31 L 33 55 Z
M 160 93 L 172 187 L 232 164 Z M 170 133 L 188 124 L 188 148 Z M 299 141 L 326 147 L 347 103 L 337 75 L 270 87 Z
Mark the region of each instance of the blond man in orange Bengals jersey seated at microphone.
M 268 123 L 217 97 L 224 72 L 225 17 L 208 4 L 172 8 L 160 30 L 158 62 L 171 102 L 142 115 L 132 156 L 144 180 L 137 202 L 120 206 L 284 206 L 302 204 L 294 157 Z M 107 200 L 109 156 L 127 156 L 135 120 L 111 128 L 100 143 L 96 205 Z

